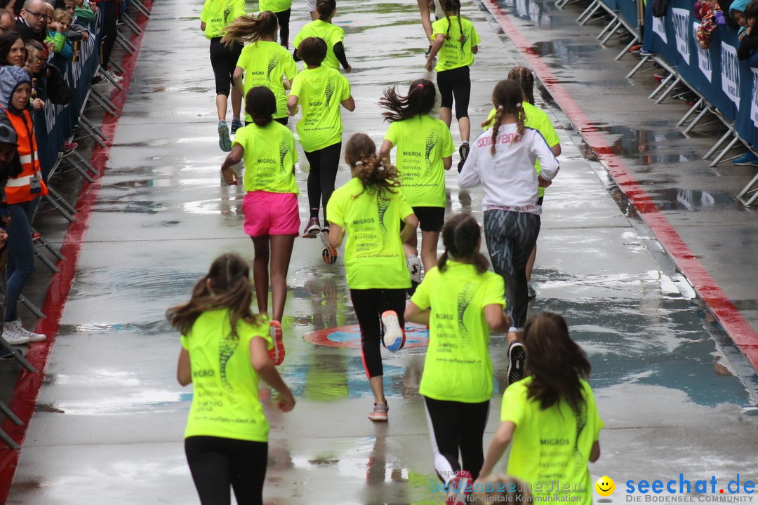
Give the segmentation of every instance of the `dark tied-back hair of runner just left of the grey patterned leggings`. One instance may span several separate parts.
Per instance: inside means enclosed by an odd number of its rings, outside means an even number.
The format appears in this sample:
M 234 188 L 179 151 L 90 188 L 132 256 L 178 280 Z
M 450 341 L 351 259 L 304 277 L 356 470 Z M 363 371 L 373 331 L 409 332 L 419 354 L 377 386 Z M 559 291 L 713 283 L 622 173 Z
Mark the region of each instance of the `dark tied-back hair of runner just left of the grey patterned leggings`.
M 437 260 L 437 269 L 444 272 L 447 268 L 447 260 L 471 263 L 476 267 L 477 273 L 487 272 L 490 263 L 479 252 L 479 239 L 481 229 L 471 214 L 456 214 L 445 223 L 442 229 L 442 243 L 445 246 L 440 259 Z

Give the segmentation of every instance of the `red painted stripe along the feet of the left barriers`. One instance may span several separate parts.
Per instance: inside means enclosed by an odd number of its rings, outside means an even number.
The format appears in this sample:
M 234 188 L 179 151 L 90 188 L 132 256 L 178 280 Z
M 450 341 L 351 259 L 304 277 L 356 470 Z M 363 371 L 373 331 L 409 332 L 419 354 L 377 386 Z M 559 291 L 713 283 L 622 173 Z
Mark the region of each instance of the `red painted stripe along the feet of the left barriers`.
M 152 0 L 146 0 L 143 5 L 149 11 L 152 11 Z M 114 91 L 111 96 L 111 101 L 116 105 L 118 111 L 124 108 L 124 102 L 127 100 L 127 92 L 132 82 L 134 68 L 136 67 L 137 59 L 139 58 L 139 48 L 142 47 L 143 37 L 145 35 L 146 26 L 149 18 L 143 14 L 139 14 L 136 22 L 137 25 L 143 30 L 140 35 L 133 35 L 131 42 L 136 46 L 137 50 L 134 55 L 127 53 L 124 55 L 124 61 L 121 62 L 121 67 L 124 67 L 124 82 L 121 86 L 124 88 L 123 92 L 118 90 Z M 112 140 L 116 135 L 116 129 L 118 126 L 118 117 L 112 117 L 109 114 L 105 114 L 105 118 L 102 123 L 102 132 L 105 136 L 108 136 L 111 141 L 105 142 L 106 148 L 102 148 L 96 145 L 92 151 L 92 157 L 89 163 L 92 167 L 102 174 L 105 172 L 105 165 L 108 162 L 108 157 L 111 153 Z M 39 389 L 42 387 L 42 379 L 45 376 L 45 368 L 47 366 L 52 347 L 55 344 L 55 336 L 58 335 L 58 330 L 61 328 L 61 316 L 68 299 L 68 295 L 71 291 L 71 286 L 74 284 L 74 276 L 77 271 L 77 263 L 79 263 L 79 255 L 81 251 L 82 242 L 89 228 L 89 218 L 92 215 L 92 209 L 95 207 L 97 196 L 101 187 L 100 178 L 95 179 L 92 184 L 86 182 L 82 186 L 77 198 L 77 221 L 71 223 L 66 231 L 63 245 L 61 246 L 61 253 L 67 258 L 65 261 L 58 262 L 59 273 L 55 273 L 52 276 L 50 285 L 45 295 L 45 301 L 42 304 L 42 312 L 45 313 L 45 319 L 41 320 L 36 327 L 36 332 L 44 333 L 48 335 L 47 341 L 39 342 L 37 344 L 31 344 L 30 349 L 26 354 L 27 360 L 39 370 L 39 373 L 28 373 L 26 369 L 21 369 L 16 386 L 11 397 L 11 410 L 20 417 L 24 426 L 16 426 L 8 419 L 3 422 L 2 429 L 11 435 L 11 438 L 16 441 L 17 444 L 23 447 L 23 441 L 27 436 L 27 427 L 32 419 L 34 410 L 36 409 L 37 398 L 39 397 Z M 2 444 L 2 442 L 0 442 Z M 0 503 L 5 503 L 8 500 L 8 494 L 11 491 L 11 483 L 13 482 L 14 474 L 20 457 L 20 450 L 11 450 L 5 447 L 0 449 Z

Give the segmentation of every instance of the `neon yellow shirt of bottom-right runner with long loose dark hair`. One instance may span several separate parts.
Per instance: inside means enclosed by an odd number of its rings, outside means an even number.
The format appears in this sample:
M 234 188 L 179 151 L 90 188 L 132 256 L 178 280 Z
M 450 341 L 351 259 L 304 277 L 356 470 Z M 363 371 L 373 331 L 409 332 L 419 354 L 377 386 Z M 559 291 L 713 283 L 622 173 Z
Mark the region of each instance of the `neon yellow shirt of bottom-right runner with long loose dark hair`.
M 503 394 L 500 420 L 516 426 L 507 472 L 531 484 L 534 496 L 563 497 L 565 502 L 574 497 L 572 503 L 589 505 L 593 487 L 587 462 L 603 429 L 592 389 L 580 379 L 585 408 L 577 418 L 565 401 L 542 410 L 537 401 L 528 399 L 531 381 L 527 377 L 515 382 Z M 556 492 L 556 481 L 568 489 Z

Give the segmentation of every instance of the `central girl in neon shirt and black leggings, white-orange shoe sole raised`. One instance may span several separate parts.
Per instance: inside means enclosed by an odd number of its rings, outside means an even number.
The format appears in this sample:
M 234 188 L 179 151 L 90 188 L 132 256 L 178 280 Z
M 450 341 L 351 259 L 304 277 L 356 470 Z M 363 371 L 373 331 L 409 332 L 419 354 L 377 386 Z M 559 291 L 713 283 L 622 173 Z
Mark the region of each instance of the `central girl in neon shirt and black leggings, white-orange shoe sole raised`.
M 329 245 L 340 247 L 347 234 L 347 285 L 361 327 L 363 366 L 374 392 L 374 410 L 368 419 L 387 421 L 379 342 L 384 326 L 387 349 L 397 351 L 405 343 L 402 313 L 411 279 L 402 242 L 415 235 L 418 219 L 399 192 L 396 168 L 381 161 L 368 135 L 350 137 L 345 161 L 352 179 L 329 201 Z

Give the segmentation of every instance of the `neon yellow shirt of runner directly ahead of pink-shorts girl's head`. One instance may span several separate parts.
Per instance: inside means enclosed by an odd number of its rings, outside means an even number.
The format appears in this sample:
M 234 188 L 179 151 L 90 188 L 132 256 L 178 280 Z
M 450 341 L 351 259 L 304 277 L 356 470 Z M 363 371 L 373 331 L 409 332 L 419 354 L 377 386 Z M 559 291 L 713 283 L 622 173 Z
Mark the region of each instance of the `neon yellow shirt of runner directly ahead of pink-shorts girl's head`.
M 292 80 L 297 75 L 297 65 L 290 51 L 277 42 L 258 40 L 243 48 L 240 59 L 237 60 L 237 67 L 245 71 L 245 96 L 256 86 L 266 86 L 277 98 L 277 112 L 274 117 L 287 117 L 287 90 L 284 89 L 282 78 Z M 245 121 L 249 123 L 252 118 L 246 114 Z

